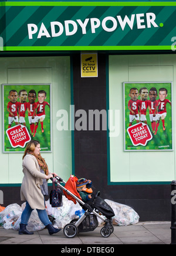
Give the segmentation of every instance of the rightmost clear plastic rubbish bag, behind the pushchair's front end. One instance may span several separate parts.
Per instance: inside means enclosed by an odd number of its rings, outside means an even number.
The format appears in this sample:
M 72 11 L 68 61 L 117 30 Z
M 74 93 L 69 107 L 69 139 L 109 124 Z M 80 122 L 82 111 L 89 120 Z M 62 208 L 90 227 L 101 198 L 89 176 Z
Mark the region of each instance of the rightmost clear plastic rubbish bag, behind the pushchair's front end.
M 112 218 L 113 225 L 127 226 L 138 223 L 140 217 L 130 206 L 119 204 L 109 199 L 105 199 L 104 201 L 106 201 L 114 211 L 115 216 Z M 101 226 L 103 223 L 104 222 L 99 218 L 99 226 Z

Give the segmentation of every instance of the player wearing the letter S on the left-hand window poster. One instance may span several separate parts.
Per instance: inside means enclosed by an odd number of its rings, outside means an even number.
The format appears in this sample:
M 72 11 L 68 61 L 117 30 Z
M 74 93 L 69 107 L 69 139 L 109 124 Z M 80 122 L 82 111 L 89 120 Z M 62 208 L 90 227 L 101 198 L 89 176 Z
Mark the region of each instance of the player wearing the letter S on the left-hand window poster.
M 7 110 L 9 112 L 8 128 L 10 128 L 13 122 L 15 122 L 15 124 L 18 124 L 18 113 L 17 113 L 18 102 L 16 101 L 18 99 L 18 92 L 16 90 L 9 91 L 8 99 L 10 100 L 7 106 Z

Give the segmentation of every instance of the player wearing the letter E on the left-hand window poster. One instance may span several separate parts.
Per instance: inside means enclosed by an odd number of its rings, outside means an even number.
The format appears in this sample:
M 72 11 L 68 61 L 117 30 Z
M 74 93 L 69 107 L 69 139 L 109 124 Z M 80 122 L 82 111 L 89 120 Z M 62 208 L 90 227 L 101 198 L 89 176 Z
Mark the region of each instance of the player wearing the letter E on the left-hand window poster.
M 37 111 L 36 111 L 36 123 L 33 137 L 35 137 L 36 130 L 38 129 L 39 122 L 41 124 L 42 133 L 44 132 L 43 121 L 45 120 L 45 106 L 50 104 L 46 100 L 46 91 L 38 91 L 38 102 L 37 102 Z

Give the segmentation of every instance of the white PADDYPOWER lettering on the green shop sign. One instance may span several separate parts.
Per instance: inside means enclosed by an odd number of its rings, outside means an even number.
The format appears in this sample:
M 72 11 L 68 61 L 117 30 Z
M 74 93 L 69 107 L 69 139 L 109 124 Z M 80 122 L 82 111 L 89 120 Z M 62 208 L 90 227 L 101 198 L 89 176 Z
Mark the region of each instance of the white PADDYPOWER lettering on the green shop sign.
M 111 27 L 107 27 L 107 22 L 109 21 L 111 21 Z M 128 18 L 126 15 L 124 19 L 122 19 L 120 15 L 117 15 L 116 18 L 108 16 L 102 21 L 100 21 L 98 18 L 87 18 L 84 21 L 81 21 L 80 19 L 76 19 L 76 21 L 67 20 L 64 22 L 64 25 L 59 21 L 52 21 L 50 22 L 50 34 L 43 22 L 40 27 L 38 27 L 36 24 L 28 24 L 28 35 L 29 39 L 33 39 L 34 34 L 37 34 L 37 38 L 50 38 L 59 37 L 65 31 L 66 36 L 69 36 L 76 34 L 78 26 L 82 28 L 82 34 L 86 34 L 86 27 L 89 23 L 92 34 L 96 33 L 96 29 L 99 28 L 100 25 L 103 30 L 107 32 L 113 32 L 119 25 L 122 30 L 124 30 L 126 25 L 133 30 L 134 24 L 136 24 L 137 29 L 144 29 L 146 27 L 151 28 L 151 25 L 155 28 L 158 27 L 158 25 L 155 23 L 155 14 L 153 12 L 148 12 L 146 14 L 132 14 L 131 18 Z

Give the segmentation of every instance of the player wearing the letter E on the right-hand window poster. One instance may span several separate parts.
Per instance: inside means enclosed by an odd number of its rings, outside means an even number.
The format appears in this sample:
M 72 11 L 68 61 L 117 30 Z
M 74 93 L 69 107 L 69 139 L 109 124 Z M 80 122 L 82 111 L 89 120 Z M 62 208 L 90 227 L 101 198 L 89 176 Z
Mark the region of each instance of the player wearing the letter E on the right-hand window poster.
M 163 130 L 165 130 L 164 119 L 167 115 L 166 104 L 170 103 L 171 105 L 171 101 L 168 99 L 165 99 L 166 97 L 167 97 L 167 89 L 160 88 L 159 90 L 160 99 L 158 100 L 158 119 L 157 119 L 155 134 L 157 134 L 158 126 L 160 125 L 160 120 L 163 123 Z

